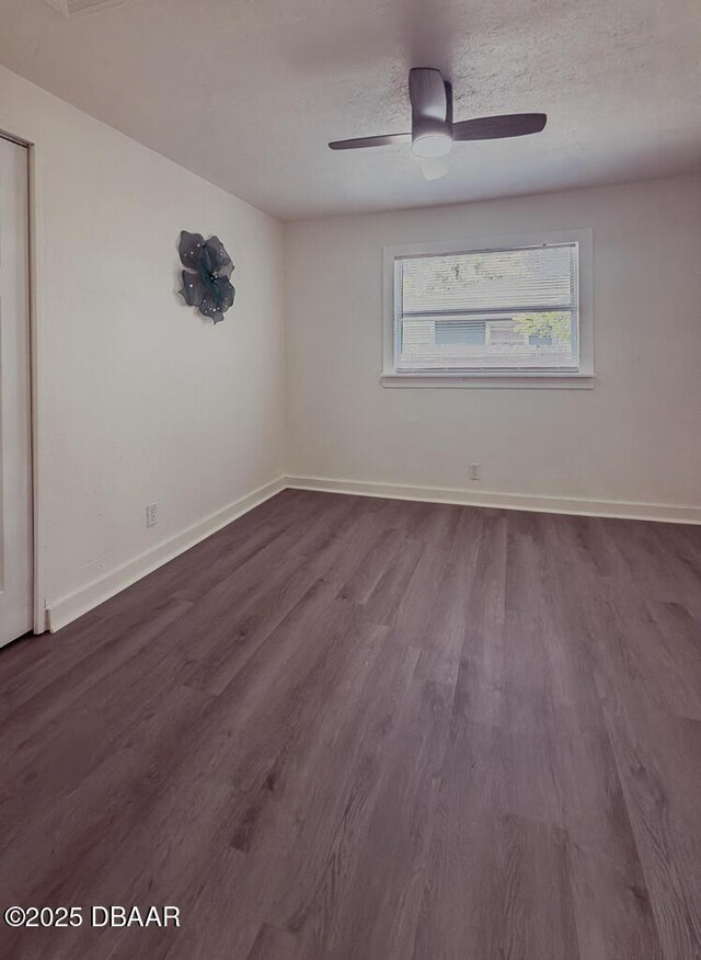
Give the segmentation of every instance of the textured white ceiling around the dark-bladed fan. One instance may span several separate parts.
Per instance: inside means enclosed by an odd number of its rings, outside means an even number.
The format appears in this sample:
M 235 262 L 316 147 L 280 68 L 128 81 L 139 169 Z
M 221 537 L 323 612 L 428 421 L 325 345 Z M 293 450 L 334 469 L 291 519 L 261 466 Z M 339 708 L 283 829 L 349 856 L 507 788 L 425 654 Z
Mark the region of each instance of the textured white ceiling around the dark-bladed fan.
M 0 61 L 286 219 L 701 165 L 699 0 L 1 0 Z M 456 119 L 549 125 L 459 145 L 434 182 L 406 147 L 332 153 L 409 129 L 412 66 L 452 80 Z

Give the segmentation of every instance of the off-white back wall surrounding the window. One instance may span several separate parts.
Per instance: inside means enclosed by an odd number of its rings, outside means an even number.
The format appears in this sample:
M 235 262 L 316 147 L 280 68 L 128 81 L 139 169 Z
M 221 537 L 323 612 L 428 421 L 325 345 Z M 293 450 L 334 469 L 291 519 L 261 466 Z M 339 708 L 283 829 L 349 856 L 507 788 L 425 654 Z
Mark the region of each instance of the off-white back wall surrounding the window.
M 561 228 L 594 230 L 594 390 L 379 385 L 383 244 Z M 693 178 L 288 225 L 288 473 L 700 507 L 700 253 Z

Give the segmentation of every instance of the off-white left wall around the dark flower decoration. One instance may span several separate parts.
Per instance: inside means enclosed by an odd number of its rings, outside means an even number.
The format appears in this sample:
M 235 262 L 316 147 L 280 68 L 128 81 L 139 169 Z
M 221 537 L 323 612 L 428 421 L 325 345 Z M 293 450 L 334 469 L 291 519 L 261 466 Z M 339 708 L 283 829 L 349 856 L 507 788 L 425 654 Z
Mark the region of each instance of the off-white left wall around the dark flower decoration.
M 284 472 L 283 228 L 1 68 L 0 129 L 36 144 L 51 607 Z M 235 264 L 216 328 L 175 293 L 182 229 Z

